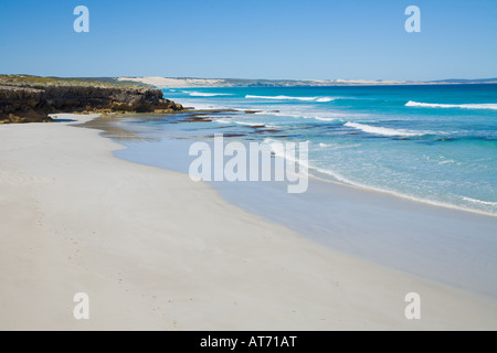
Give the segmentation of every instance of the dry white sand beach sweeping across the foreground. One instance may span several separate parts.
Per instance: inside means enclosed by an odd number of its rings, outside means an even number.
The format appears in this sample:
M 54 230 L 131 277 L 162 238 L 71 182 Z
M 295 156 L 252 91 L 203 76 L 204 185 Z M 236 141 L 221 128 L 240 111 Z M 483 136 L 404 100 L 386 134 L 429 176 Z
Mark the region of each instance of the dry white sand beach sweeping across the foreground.
M 497 329 L 490 299 L 316 244 L 119 148 L 67 122 L 0 126 L 0 330 Z M 404 317 L 412 291 L 421 320 Z

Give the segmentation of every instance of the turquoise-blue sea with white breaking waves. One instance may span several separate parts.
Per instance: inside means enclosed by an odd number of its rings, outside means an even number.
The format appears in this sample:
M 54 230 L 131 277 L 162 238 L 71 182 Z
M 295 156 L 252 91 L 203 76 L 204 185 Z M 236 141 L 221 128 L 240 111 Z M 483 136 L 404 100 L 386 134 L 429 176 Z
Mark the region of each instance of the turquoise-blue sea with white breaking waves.
M 309 173 L 497 215 L 497 85 L 165 88 L 188 107 L 239 111 L 197 124 L 135 121 L 157 136 L 212 131 L 308 141 Z M 256 110 L 246 114 L 245 110 Z

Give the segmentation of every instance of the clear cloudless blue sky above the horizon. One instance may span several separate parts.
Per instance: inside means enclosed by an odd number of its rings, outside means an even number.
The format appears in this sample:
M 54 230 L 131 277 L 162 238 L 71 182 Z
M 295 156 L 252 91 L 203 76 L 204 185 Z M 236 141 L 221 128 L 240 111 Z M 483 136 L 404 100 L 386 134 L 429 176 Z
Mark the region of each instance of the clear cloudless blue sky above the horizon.
M 73 30 L 78 4 L 89 33 Z M 421 33 L 404 30 L 410 4 Z M 497 76 L 496 0 L 0 0 L 0 33 L 4 74 Z

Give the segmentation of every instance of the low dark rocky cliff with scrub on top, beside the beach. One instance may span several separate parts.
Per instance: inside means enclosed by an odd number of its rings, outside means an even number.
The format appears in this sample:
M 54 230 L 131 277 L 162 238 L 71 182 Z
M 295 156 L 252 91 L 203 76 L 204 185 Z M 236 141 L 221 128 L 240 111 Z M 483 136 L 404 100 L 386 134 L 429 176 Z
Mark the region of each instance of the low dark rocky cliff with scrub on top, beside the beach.
M 156 88 L 19 77 L 0 79 L 0 124 L 46 122 L 52 120 L 49 114 L 55 113 L 183 110 L 181 105 L 165 99 L 162 92 Z

